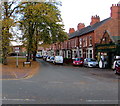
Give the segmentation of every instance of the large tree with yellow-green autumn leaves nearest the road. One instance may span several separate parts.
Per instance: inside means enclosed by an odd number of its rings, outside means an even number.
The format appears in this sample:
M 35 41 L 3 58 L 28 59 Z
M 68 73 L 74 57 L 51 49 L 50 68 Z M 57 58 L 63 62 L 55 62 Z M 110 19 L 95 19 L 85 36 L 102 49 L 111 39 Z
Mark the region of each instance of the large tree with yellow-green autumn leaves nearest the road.
M 17 10 L 15 11 L 16 8 Z M 22 31 L 20 40 L 22 40 L 27 49 L 27 61 L 30 60 L 31 54 L 33 54 L 33 60 L 36 60 L 39 42 L 51 44 L 67 39 L 58 9 L 58 2 L 46 2 L 45 0 L 44 2 L 19 2 L 14 8 L 14 13 L 19 14 L 17 23 L 19 23 L 19 28 Z M 18 15 L 15 16 L 18 17 Z M 11 22 L 14 22 L 14 18 Z M 10 27 L 7 30 L 8 33 L 9 29 Z M 8 36 L 9 38 L 9 34 L 2 34 L 2 36 Z M 8 45 L 9 42 L 6 44 Z M 3 47 L 5 47 L 4 44 Z

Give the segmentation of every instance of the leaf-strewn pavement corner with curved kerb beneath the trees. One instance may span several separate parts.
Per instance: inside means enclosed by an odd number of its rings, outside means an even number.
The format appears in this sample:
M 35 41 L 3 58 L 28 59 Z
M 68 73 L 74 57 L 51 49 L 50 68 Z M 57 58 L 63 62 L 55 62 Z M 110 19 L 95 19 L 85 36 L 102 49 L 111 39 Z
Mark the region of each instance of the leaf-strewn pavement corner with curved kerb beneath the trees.
M 20 67 L 9 67 L 2 65 L 2 80 L 17 80 L 17 79 L 24 79 L 24 78 L 30 78 L 35 73 L 37 73 L 37 70 L 39 68 L 39 63 L 33 62 L 32 66 L 20 66 Z

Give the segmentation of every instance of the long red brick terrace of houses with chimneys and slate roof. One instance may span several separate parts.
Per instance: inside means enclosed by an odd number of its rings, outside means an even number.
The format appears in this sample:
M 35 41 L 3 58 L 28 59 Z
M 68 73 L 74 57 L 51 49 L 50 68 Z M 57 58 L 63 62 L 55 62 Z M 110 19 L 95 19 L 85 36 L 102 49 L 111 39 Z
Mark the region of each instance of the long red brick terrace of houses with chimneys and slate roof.
M 92 16 L 89 26 L 85 27 L 83 23 L 79 23 L 76 31 L 70 28 L 68 40 L 52 44 L 54 45 L 51 47 L 53 54 L 71 59 L 75 57 L 97 58 L 96 45 L 100 44 L 105 31 L 111 36 L 120 36 L 120 4 L 114 4 L 110 9 L 109 18 L 100 21 L 99 16 Z

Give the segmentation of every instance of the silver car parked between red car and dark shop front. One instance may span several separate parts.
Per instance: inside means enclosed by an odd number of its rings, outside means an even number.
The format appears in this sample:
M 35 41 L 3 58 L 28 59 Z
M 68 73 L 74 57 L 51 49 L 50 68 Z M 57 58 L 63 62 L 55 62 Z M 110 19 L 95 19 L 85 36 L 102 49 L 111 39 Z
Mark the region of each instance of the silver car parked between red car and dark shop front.
M 98 67 L 98 61 L 93 58 L 85 58 L 84 59 L 84 66 L 87 67 Z

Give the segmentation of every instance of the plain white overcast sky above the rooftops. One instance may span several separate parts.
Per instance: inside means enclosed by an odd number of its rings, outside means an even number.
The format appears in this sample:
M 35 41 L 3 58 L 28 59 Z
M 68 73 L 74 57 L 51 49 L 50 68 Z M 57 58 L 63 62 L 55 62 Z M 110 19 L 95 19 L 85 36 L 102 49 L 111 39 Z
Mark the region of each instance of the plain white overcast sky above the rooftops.
M 91 16 L 99 15 L 100 20 L 110 17 L 110 7 L 120 0 L 61 0 L 60 7 L 65 31 L 69 28 L 77 29 L 78 23 L 88 26 Z

